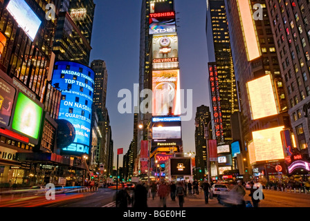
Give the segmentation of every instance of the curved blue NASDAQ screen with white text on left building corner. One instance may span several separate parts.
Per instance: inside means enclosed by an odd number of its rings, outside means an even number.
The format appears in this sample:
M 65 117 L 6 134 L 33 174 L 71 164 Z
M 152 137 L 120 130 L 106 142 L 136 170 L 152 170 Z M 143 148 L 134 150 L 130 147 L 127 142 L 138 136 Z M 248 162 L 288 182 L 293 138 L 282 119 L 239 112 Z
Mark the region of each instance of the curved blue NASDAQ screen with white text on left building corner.
M 68 120 L 75 128 L 75 140 L 62 148 L 62 155 L 89 154 L 94 79 L 95 73 L 88 66 L 55 62 L 52 84 L 62 91 L 58 118 Z

